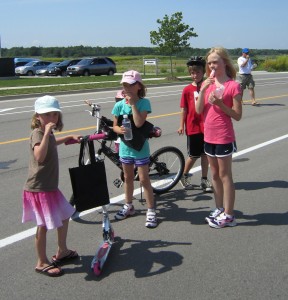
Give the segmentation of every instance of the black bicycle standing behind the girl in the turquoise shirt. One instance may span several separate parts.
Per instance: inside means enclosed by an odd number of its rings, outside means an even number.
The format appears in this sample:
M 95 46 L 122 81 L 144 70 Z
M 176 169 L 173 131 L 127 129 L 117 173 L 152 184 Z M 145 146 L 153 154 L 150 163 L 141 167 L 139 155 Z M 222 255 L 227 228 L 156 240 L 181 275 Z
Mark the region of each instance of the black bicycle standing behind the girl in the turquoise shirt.
M 119 160 L 117 150 L 117 134 L 111 128 L 113 121 L 100 116 L 101 106 L 85 101 L 91 107 L 90 114 L 96 118 L 96 131 L 92 135 L 84 137 L 90 141 L 97 141 L 100 145 L 95 151 L 96 160 L 104 160 L 109 158 L 120 170 L 120 177 L 113 181 L 116 187 L 121 187 L 124 182 L 124 173 L 122 163 Z M 160 137 L 162 131 L 159 127 L 154 127 L 151 131 L 150 138 Z M 114 144 L 114 147 L 113 147 Z M 89 160 L 86 162 L 90 163 Z M 151 180 L 153 192 L 155 194 L 163 194 L 171 190 L 180 180 L 185 165 L 183 153 L 174 146 L 166 146 L 156 150 L 150 156 L 149 177 Z M 139 181 L 138 170 L 135 168 L 135 181 Z

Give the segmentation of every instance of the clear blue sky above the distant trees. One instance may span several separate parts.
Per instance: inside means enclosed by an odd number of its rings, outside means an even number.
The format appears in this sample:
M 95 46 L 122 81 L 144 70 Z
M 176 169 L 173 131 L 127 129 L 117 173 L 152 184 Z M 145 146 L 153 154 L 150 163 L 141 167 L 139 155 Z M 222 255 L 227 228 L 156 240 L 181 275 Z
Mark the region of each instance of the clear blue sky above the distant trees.
M 178 11 L 191 47 L 288 49 L 285 0 L 1 0 L 2 48 L 151 47 L 156 20 Z

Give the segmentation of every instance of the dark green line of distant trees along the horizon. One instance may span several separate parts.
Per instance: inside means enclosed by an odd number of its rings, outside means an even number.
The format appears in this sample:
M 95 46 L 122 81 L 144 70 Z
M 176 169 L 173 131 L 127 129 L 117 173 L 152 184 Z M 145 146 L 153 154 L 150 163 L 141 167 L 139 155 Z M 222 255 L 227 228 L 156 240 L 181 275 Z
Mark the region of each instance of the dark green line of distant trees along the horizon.
M 176 57 L 205 56 L 210 48 L 187 47 L 174 53 Z M 250 49 L 253 56 L 275 57 L 288 55 L 288 49 Z M 232 57 L 241 55 L 241 48 L 228 49 Z M 161 55 L 157 47 L 12 47 L 2 48 L 2 57 L 51 57 L 51 58 L 78 58 L 87 56 L 157 56 Z M 162 53 L 163 55 L 163 53 Z

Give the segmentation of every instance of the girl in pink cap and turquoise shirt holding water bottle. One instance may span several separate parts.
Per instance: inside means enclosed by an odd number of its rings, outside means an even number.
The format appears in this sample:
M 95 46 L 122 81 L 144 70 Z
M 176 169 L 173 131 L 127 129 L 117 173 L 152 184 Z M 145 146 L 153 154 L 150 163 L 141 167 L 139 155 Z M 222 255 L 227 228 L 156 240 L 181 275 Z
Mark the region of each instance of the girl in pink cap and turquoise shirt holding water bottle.
M 115 218 L 117 220 L 123 220 L 135 214 L 132 201 L 134 191 L 134 166 L 137 166 L 140 183 L 144 189 L 148 206 L 145 226 L 147 228 L 155 228 L 158 223 L 154 208 L 153 189 L 149 178 L 150 149 L 148 138 L 143 139 L 140 146 L 136 146 L 135 143 L 137 144 L 138 141 L 134 135 L 134 132 L 137 130 L 136 128 L 141 129 L 148 113 L 151 113 L 151 104 L 149 99 L 145 98 L 146 88 L 142 83 L 141 75 L 137 71 L 130 70 L 125 72 L 122 76 L 121 83 L 124 90 L 124 99 L 114 105 L 112 114 L 114 115 L 113 130 L 122 137 L 119 156 L 125 177 L 125 204 L 115 215 Z M 123 138 L 125 132 L 125 128 L 121 126 L 123 115 L 129 116 L 134 123 L 135 131 L 132 130 L 133 139 L 130 143 L 127 143 Z

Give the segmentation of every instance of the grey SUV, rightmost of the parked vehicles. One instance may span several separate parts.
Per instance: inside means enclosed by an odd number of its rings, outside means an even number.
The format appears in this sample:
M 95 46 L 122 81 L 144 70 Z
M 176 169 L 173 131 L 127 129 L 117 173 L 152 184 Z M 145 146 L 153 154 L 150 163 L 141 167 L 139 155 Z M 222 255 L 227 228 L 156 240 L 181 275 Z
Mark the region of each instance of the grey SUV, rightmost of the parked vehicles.
M 114 75 L 116 64 L 109 57 L 84 58 L 77 65 L 67 68 L 69 76 Z

